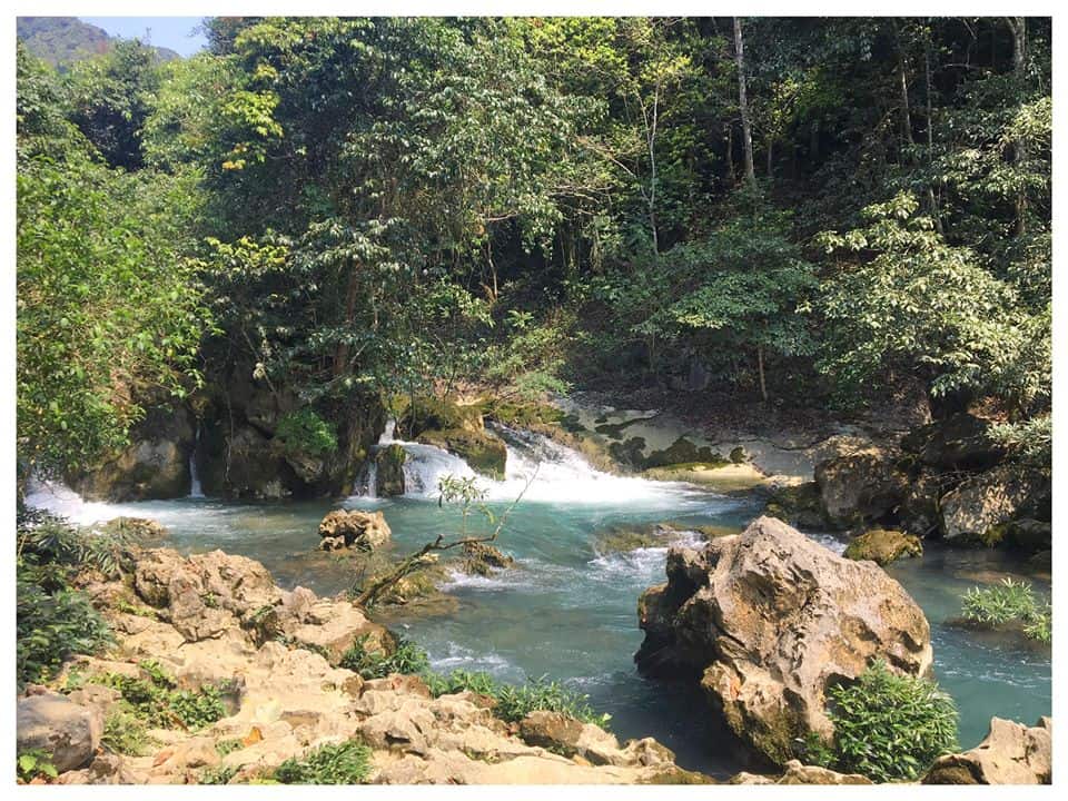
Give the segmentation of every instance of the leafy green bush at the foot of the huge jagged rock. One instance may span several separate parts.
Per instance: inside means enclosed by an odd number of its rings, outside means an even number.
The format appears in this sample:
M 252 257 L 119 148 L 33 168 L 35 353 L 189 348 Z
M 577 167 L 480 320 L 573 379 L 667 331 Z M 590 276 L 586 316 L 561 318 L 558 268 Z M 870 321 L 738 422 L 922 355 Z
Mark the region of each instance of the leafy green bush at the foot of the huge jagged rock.
M 934 682 L 873 662 L 828 693 L 831 743 L 810 740 L 805 761 L 873 781 L 912 781 L 957 748 L 957 706 Z

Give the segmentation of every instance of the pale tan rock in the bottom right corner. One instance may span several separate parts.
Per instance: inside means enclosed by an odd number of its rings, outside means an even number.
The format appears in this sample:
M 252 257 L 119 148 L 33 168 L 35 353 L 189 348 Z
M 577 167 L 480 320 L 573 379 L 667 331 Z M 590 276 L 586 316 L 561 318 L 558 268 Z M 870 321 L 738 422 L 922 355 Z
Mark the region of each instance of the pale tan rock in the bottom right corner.
M 990 719 L 990 732 L 970 751 L 939 756 L 923 784 L 1050 784 L 1052 721 L 1034 726 Z

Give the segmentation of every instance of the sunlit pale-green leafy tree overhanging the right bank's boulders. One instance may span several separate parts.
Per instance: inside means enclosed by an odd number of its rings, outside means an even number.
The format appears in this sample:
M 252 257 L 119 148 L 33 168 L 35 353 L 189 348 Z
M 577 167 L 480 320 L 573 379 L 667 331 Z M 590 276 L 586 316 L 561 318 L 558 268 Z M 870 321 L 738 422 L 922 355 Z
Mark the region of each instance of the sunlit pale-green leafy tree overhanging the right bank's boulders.
M 1048 364 L 1028 355 L 1036 340 L 1013 287 L 947 245 L 918 208 L 901 194 L 864 209 L 866 228 L 820 236 L 829 253 L 876 254 L 824 284 L 821 368 L 857 386 L 914 365 L 936 396 L 992 393 L 1019 407 L 1048 396 Z

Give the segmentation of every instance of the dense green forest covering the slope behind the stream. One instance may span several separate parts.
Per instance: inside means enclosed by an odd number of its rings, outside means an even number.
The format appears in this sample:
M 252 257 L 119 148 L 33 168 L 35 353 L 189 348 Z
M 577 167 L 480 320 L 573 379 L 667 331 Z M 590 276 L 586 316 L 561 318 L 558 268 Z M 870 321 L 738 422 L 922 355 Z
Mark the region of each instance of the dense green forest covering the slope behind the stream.
M 20 459 L 234 369 L 367 393 L 917 379 L 1048 458 L 1042 19 L 220 18 L 18 52 Z

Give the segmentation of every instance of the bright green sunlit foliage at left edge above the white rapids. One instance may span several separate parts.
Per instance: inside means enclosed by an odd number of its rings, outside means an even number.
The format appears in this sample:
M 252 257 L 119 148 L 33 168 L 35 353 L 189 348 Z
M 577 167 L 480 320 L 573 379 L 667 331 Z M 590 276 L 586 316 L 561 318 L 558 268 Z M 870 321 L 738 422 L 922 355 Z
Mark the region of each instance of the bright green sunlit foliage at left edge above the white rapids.
M 76 146 L 18 172 L 19 455 L 41 473 L 125 444 L 145 389 L 185 394 L 208 325 L 188 176 L 108 170 Z

